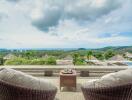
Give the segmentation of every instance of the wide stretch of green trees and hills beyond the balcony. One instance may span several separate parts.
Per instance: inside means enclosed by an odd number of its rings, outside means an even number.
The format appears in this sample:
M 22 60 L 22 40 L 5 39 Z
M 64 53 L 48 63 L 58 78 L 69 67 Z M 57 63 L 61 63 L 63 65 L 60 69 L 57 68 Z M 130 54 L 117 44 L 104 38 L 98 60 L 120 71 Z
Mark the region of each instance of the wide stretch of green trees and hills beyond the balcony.
M 0 65 L 55 65 L 56 59 L 63 59 L 72 55 L 74 65 L 85 65 L 85 59 L 91 56 L 99 60 L 109 59 L 116 54 L 132 53 L 132 46 L 126 47 L 105 47 L 101 49 L 78 50 L 6 50 L 0 49 Z M 4 56 L 13 54 L 17 58 L 5 60 Z M 47 56 L 46 56 L 47 55 Z M 85 59 L 84 59 L 85 58 Z

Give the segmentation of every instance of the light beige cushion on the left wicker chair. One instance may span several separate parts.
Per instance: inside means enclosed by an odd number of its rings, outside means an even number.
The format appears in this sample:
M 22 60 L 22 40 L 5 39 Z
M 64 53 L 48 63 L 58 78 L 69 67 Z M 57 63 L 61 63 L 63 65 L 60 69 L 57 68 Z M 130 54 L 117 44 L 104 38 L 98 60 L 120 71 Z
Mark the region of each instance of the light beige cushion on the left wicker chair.
M 48 81 L 27 75 L 23 72 L 9 68 L 0 69 L 0 80 L 12 85 L 17 85 L 35 90 L 55 90 L 56 87 Z

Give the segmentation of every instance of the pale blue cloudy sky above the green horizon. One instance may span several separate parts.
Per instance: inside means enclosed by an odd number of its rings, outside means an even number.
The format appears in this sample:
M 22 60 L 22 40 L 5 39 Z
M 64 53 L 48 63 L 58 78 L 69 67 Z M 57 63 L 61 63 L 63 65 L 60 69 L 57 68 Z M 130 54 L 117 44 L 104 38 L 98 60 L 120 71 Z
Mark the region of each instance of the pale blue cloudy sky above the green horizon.
M 0 48 L 132 46 L 132 0 L 0 0 Z

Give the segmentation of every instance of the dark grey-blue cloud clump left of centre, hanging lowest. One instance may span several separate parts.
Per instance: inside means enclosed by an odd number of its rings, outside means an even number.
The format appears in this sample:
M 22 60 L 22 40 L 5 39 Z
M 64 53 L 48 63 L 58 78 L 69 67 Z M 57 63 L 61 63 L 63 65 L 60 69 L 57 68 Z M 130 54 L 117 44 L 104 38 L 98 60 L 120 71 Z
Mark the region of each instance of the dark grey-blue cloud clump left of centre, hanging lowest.
M 49 27 L 55 26 L 59 23 L 58 21 L 61 17 L 60 10 L 61 9 L 58 7 L 47 7 L 42 14 L 35 15 L 37 13 L 39 14 L 39 11 L 36 10 L 32 13 L 32 24 L 40 30 L 48 31 Z

